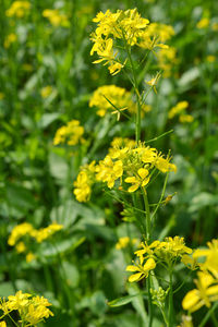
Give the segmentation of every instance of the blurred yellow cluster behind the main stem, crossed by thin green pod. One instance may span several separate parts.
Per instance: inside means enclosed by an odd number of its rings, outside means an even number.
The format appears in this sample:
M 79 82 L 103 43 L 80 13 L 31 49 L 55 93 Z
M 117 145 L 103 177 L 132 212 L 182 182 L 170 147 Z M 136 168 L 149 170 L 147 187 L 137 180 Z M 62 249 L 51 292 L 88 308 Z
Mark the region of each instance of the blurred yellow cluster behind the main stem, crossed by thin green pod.
M 89 107 L 97 107 L 97 114 L 106 116 L 107 112 L 120 117 L 123 110 L 131 113 L 136 112 L 136 104 L 132 100 L 131 93 L 116 85 L 104 85 L 98 87 L 89 100 Z M 142 114 L 150 110 L 150 106 L 142 104 Z

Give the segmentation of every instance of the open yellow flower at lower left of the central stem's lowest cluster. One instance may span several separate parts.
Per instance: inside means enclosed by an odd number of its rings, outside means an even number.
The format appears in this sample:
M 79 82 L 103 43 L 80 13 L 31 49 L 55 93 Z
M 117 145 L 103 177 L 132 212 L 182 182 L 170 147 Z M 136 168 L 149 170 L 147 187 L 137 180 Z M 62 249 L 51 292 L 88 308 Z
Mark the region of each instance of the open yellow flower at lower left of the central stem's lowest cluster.
M 136 265 L 136 266 L 128 266 L 126 271 L 136 272 L 129 277 L 129 281 L 140 281 L 144 277 L 148 277 L 148 274 L 150 270 L 155 269 L 156 263 L 154 258 L 148 258 L 147 262 L 144 265 Z

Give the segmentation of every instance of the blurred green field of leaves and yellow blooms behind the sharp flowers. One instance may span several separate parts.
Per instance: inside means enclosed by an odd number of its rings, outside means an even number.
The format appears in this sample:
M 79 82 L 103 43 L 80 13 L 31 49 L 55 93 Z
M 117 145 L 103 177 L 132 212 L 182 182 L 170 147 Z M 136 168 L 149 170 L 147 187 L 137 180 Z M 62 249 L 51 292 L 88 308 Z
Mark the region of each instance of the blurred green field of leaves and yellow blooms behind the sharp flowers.
M 19 3 L 19 4 L 17 4 Z M 111 76 L 93 64 L 92 20 L 99 11 L 137 8 L 153 23 L 172 26 L 169 49 L 148 57 L 142 81 L 161 71 L 157 95 L 147 98 L 143 141 L 173 130 L 150 146 L 171 149 L 171 174 L 155 226 L 156 235 L 182 235 L 191 247 L 217 237 L 218 211 L 218 2 L 208 0 L 10 1 L 0 9 L 0 296 L 16 290 L 39 293 L 52 303 L 48 326 L 144 326 L 143 301 L 111 308 L 107 302 L 134 294 L 126 283 L 130 249 L 119 238 L 140 233 L 131 213 L 96 187 L 90 202 L 76 202 L 73 182 L 80 166 L 106 155 L 113 137 L 134 138 L 134 124 L 121 119 L 110 130 L 88 106 L 93 92 L 114 84 L 131 90 L 122 73 Z M 177 105 L 185 101 L 184 108 Z M 181 105 L 179 105 L 180 108 Z M 170 113 L 171 112 L 171 113 Z M 84 126 L 82 146 L 55 146 L 56 131 L 76 119 Z M 93 144 L 95 150 L 93 150 Z M 92 154 L 92 157 L 89 156 Z M 85 158 L 85 159 L 84 159 Z M 158 183 L 150 199 L 158 201 Z M 122 213 L 122 214 L 121 214 Z M 51 222 L 63 229 L 28 251 L 8 244 L 13 228 Z M 138 241 L 140 242 L 140 241 Z M 122 250 L 122 251 L 121 251 Z M 27 255 L 32 254 L 32 257 Z M 133 253 L 133 251 L 132 251 Z M 128 262 L 129 261 L 129 262 Z M 178 269 L 178 281 L 184 278 Z M 181 300 L 192 279 L 177 294 Z M 204 310 L 194 315 L 196 326 Z M 162 326 L 160 320 L 154 326 Z M 209 326 L 209 325 L 208 325 Z

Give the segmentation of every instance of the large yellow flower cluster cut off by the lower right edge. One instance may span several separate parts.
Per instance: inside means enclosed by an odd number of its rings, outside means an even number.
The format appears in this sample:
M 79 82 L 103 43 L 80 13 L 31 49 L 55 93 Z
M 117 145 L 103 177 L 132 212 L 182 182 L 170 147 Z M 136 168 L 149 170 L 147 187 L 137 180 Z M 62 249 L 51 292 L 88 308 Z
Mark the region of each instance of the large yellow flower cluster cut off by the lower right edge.
M 208 249 L 197 249 L 193 253 L 193 258 L 205 257 L 204 263 L 199 263 L 201 271 L 194 280 L 196 289 L 186 293 L 182 301 L 182 306 L 189 312 L 195 312 L 203 305 L 211 306 L 211 302 L 218 301 L 218 240 L 207 243 Z

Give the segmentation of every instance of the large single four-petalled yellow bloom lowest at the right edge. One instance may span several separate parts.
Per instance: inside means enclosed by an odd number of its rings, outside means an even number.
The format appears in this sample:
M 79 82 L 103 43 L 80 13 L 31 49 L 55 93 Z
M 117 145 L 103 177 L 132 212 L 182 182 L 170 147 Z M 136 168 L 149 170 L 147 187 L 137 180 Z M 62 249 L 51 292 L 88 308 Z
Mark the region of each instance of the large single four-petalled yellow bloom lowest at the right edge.
M 218 280 L 210 274 L 199 271 L 195 280 L 196 289 L 186 293 L 182 301 L 184 310 L 191 313 L 199 310 L 203 305 L 210 307 L 210 302 L 218 300 Z

